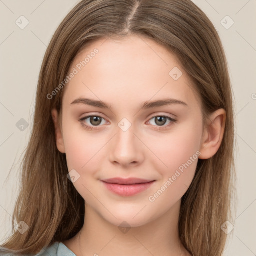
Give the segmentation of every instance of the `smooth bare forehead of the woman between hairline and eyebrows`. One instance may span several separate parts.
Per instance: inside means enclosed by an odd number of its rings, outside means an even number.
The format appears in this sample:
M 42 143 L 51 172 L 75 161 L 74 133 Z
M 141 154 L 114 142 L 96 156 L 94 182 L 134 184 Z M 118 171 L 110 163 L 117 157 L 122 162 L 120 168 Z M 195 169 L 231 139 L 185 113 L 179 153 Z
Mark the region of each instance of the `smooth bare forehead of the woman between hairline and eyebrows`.
M 77 73 L 65 86 L 63 96 L 68 104 L 78 97 L 124 108 L 131 101 L 141 105 L 142 101 L 167 97 L 198 104 L 179 60 L 149 38 L 132 35 L 94 41 L 75 57 L 68 73 L 74 69 Z

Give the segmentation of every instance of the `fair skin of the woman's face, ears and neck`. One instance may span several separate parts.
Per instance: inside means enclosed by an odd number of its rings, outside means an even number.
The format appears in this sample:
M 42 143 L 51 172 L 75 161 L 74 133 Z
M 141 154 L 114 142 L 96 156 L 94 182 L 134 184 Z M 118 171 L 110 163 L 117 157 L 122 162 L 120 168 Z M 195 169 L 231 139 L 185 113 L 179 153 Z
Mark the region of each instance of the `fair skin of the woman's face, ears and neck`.
M 153 40 L 137 35 L 93 42 L 76 56 L 70 72 L 94 48 L 99 53 L 64 88 L 60 120 L 56 109 L 52 110 L 57 148 L 66 154 L 68 170 L 79 173 L 73 185 L 85 199 L 84 225 L 63 243 L 76 255 L 190 255 L 179 246 L 181 197 L 192 182 L 198 158 L 217 152 L 225 110 L 212 113 L 203 128 L 200 99 L 178 59 Z M 177 80 L 169 75 L 173 67 L 183 73 Z M 101 100 L 111 110 L 71 104 L 85 97 Z M 187 106 L 139 110 L 144 101 L 169 97 Z M 90 114 L 103 117 L 98 126 L 90 118 L 79 121 Z M 176 122 L 166 119 L 163 126 L 168 127 L 162 129 L 153 118 L 162 115 Z M 126 131 L 118 126 L 123 118 L 131 123 Z M 93 129 L 85 129 L 82 123 Z M 155 201 L 149 201 L 197 151 L 199 157 Z M 124 197 L 100 181 L 113 177 L 156 181 L 147 190 Z M 131 227 L 125 233 L 118 228 L 123 221 Z

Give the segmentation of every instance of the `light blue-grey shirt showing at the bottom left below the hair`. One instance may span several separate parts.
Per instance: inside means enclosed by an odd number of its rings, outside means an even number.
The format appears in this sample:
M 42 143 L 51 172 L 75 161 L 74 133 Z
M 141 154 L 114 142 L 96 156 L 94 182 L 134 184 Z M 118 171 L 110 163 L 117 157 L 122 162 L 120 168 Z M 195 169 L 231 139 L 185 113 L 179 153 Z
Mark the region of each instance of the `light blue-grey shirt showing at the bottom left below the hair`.
M 0 255 L 4 256 L 15 256 L 15 254 L 4 253 L 0 249 Z M 71 250 L 69 250 L 64 243 L 55 242 L 51 246 L 44 247 L 39 253 L 35 256 L 76 256 Z

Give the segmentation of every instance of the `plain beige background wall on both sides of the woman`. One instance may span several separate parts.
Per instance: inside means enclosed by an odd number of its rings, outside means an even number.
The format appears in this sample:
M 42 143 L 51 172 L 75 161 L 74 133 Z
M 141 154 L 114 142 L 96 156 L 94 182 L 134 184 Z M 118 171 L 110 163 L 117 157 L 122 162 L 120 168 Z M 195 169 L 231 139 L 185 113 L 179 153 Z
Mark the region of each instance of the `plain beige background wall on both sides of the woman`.
M 224 255 L 252 256 L 256 255 L 256 0 L 193 1 L 220 35 L 235 99 L 238 206 Z M 77 2 L 0 0 L 0 243 L 10 234 L 18 164 L 31 131 L 42 58 L 58 24 Z M 29 22 L 24 29 L 15 23 L 21 15 L 23 25 Z

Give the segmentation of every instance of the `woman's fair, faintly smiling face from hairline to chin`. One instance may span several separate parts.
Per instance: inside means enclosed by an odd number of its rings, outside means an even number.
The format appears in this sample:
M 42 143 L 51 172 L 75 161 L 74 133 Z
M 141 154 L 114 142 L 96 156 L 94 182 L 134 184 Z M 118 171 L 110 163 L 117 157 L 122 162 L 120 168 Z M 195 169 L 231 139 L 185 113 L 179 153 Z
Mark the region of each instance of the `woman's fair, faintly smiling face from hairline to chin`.
M 73 71 L 57 146 L 76 190 L 115 225 L 140 226 L 171 211 L 194 177 L 203 133 L 200 100 L 177 58 L 148 38 L 109 38 L 79 53 Z M 146 183 L 102 181 L 116 177 Z

